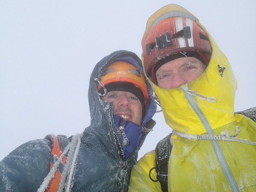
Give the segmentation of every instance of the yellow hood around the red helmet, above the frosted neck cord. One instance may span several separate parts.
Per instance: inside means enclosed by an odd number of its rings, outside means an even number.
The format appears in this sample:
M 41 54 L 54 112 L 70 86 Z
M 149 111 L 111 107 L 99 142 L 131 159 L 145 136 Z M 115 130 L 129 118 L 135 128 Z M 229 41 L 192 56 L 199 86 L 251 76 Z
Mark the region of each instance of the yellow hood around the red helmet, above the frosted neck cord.
M 199 23 L 199 20 L 183 7 L 174 4 L 167 5 L 148 19 L 142 44 L 152 26 L 166 19 L 164 16 L 166 12 L 172 12 L 173 17 L 182 15 L 182 17 L 193 18 L 193 20 Z M 199 25 L 207 32 L 204 26 L 200 23 Z M 223 52 L 221 52 L 211 35 L 208 32 L 207 34 L 212 45 L 212 57 L 206 71 L 197 79 L 188 83 L 188 89 L 192 90 L 193 93 L 203 95 L 194 96 L 195 102 L 207 118 L 211 128 L 215 129 L 235 121 L 234 98 L 237 84 L 229 61 Z M 223 74 L 219 71 L 219 67 L 225 67 Z M 143 68 L 145 70 L 144 62 Z M 148 80 L 160 101 L 166 123 L 171 128 L 176 131 L 192 134 L 203 134 L 207 132 L 201 122 L 200 116 L 192 108 L 184 91 L 180 87 L 163 89 L 154 84 L 150 79 Z M 182 85 L 182 87 L 185 87 L 185 85 Z M 204 99 L 204 96 L 209 101 Z

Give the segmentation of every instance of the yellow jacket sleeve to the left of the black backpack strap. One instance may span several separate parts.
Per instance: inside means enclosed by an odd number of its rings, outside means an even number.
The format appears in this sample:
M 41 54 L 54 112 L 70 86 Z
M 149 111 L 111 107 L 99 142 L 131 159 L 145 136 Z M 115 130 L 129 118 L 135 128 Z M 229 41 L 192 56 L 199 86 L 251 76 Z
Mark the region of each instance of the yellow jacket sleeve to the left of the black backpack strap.
M 155 167 L 155 151 L 145 154 L 132 168 L 128 192 L 160 192 L 161 185 L 149 178 L 149 171 Z M 156 170 L 151 171 L 151 177 L 157 180 Z

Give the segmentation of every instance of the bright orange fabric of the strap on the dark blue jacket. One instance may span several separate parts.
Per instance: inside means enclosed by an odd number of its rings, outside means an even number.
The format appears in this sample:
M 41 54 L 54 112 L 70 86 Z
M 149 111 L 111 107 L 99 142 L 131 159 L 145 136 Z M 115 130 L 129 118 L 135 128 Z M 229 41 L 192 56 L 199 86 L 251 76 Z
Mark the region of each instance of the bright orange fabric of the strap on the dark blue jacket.
M 53 147 L 52 147 L 52 154 L 51 155 L 57 156 L 59 158 L 62 154 L 62 151 L 61 151 L 60 145 L 58 143 L 58 139 L 54 134 L 52 134 L 51 136 L 52 136 L 52 139 L 53 139 Z M 57 160 L 58 160 L 58 158 L 57 158 Z M 63 157 L 62 158 L 62 163 L 65 164 L 66 161 L 67 161 L 67 157 Z M 55 163 L 55 161 L 53 163 Z M 53 163 L 50 162 L 50 170 L 53 167 Z M 46 192 L 57 192 L 60 183 L 61 183 L 61 172 L 57 169 L 57 171 L 55 172 L 54 177 L 49 182 L 49 185 L 46 189 Z

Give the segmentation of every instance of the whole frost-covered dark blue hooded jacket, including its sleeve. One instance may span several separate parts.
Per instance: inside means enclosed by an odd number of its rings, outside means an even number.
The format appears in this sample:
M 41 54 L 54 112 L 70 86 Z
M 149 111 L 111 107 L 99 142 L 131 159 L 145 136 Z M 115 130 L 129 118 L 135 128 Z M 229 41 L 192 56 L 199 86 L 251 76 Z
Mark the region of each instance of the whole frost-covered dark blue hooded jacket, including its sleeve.
M 156 111 L 156 105 L 152 99 L 153 91 L 147 82 L 150 99 L 142 119 L 142 131 L 138 133 L 140 138 L 139 141 L 134 141 L 137 142 L 133 146 L 135 150 L 133 152 L 129 150 L 125 158 L 122 135 L 113 119 L 113 104 L 103 102 L 97 94 L 96 79 L 102 76 L 109 64 L 117 60 L 127 61 L 143 73 L 140 58 L 133 52 L 124 50 L 113 52 L 96 64 L 90 76 L 88 91 L 91 122 L 90 126 L 79 134 L 79 143 L 77 142 L 79 150 L 76 150 L 78 154 L 74 153 L 74 156 L 77 156 L 74 157 L 76 163 L 72 167 L 74 170 L 70 176 L 71 191 L 127 191 L 129 176 L 132 166 L 136 163 L 138 150 L 148 131 L 155 125 L 151 118 Z M 132 125 L 130 123 L 127 126 Z M 0 162 L 0 191 L 37 191 L 49 174 L 51 149 L 51 141 L 42 139 L 24 143 L 12 151 Z

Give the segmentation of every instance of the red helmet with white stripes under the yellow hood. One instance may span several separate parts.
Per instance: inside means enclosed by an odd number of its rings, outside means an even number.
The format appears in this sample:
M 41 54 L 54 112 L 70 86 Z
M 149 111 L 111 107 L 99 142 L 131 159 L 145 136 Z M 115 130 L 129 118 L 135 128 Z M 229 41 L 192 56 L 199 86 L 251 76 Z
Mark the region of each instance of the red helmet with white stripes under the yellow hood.
M 171 17 L 155 25 L 143 43 L 144 67 L 147 76 L 152 76 L 152 67 L 166 56 L 179 52 L 197 52 L 209 63 L 212 47 L 207 33 L 194 20 Z

